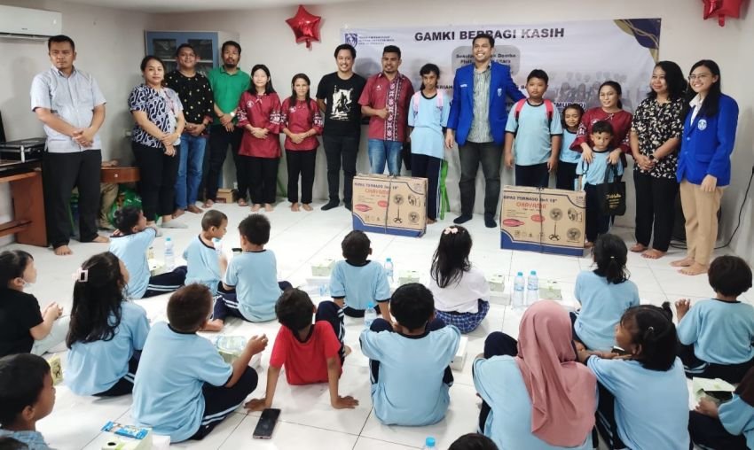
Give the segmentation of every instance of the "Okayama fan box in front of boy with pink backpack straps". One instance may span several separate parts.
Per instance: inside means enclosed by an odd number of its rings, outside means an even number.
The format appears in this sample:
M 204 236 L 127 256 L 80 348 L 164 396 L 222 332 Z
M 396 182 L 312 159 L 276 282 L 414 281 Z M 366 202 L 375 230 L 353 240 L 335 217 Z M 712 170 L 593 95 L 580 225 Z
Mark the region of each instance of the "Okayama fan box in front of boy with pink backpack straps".
M 500 207 L 500 248 L 581 256 L 585 193 L 505 186 Z

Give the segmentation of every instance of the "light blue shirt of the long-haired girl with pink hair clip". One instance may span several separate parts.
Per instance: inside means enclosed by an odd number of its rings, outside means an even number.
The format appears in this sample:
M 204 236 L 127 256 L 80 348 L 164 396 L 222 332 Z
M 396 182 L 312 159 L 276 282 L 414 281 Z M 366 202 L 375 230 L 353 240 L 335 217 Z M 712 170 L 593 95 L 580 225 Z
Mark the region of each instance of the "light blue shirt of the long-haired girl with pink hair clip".
M 114 316 L 110 317 L 111 323 Z M 135 350 L 144 348 L 149 333 L 146 311 L 136 303 L 121 303 L 121 323 L 110 340 L 78 341 L 68 352 L 66 384 L 76 395 L 94 395 L 113 387 L 129 373 Z

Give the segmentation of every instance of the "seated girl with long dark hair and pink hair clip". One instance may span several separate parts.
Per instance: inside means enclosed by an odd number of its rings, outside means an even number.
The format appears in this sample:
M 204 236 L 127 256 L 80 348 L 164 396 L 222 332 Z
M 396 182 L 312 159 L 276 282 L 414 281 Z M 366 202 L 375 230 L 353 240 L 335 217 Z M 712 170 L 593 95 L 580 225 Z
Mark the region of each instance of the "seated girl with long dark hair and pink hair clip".
M 143 307 L 123 298 L 128 281 L 128 270 L 111 252 L 92 256 L 79 271 L 65 377 L 76 395 L 114 397 L 133 391 L 149 320 Z

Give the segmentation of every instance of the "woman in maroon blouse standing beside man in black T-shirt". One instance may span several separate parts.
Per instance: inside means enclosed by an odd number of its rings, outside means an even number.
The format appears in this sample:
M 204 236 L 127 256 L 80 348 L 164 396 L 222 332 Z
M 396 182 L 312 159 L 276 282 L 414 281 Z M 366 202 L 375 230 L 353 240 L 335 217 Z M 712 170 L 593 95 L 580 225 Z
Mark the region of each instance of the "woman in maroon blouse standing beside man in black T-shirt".
M 288 167 L 288 201 L 291 211 L 299 211 L 298 177 L 301 175 L 302 208 L 311 211 L 311 190 L 314 186 L 314 163 L 322 133 L 322 113 L 309 94 L 309 77 L 295 74 L 291 81 L 292 94 L 283 101 L 283 133 L 286 135 Z

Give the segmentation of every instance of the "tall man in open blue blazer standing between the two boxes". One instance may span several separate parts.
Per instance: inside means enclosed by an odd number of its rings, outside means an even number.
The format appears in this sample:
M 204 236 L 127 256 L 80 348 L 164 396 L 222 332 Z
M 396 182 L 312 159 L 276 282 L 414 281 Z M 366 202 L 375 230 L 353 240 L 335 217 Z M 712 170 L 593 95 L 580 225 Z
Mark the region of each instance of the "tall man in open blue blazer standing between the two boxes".
M 479 163 L 486 183 L 484 225 L 495 228 L 500 197 L 500 161 L 507 122 L 506 97 L 518 101 L 523 94 L 515 85 L 510 67 L 491 60 L 495 39 L 476 35 L 472 41 L 474 64 L 460 67 L 453 80 L 453 101 L 445 132 L 445 145 L 459 144 L 460 215 L 455 223 L 471 220 Z

